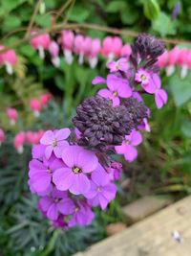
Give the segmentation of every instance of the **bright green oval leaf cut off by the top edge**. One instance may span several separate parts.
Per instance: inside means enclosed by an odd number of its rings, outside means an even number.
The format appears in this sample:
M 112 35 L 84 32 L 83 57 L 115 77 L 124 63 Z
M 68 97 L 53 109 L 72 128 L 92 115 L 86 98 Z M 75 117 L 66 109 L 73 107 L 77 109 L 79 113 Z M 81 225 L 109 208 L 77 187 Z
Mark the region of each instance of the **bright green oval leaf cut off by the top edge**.
M 150 19 L 155 20 L 159 17 L 159 4 L 157 0 L 145 0 L 143 2 L 144 15 Z

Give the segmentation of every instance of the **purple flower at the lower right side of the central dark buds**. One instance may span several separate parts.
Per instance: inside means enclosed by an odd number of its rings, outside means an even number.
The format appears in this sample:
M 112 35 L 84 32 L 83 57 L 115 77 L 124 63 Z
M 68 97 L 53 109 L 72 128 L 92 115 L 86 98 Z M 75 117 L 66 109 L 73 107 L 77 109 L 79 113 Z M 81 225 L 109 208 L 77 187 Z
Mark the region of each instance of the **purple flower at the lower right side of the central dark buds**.
M 138 156 L 136 146 L 142 142 L 142 136 L 139 131 L 132 130 L 130 135 L 125 136 L 125 140 L 121 146 L 116 146 L 115 150 L 117 153 L 124 154 L 125 159 L 128 162 L 134 161 Z

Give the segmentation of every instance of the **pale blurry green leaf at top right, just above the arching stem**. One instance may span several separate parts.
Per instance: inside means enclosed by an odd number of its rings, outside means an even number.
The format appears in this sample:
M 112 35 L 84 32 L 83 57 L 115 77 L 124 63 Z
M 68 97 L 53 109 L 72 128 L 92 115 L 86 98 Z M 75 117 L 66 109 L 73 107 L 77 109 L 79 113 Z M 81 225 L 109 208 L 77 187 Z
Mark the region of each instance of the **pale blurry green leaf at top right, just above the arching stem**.
M 164 12 L 159 13 L 159 17 L 153 21 L 152 28 L 161 36 L 176 34 L 175 23 Z

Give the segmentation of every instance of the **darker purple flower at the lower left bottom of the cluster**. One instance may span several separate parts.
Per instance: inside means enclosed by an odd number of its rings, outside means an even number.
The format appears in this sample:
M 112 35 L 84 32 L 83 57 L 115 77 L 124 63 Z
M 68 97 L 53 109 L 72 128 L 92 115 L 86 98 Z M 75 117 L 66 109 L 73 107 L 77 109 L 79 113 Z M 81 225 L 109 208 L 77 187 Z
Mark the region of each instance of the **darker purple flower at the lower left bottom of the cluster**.
M 40 198 L 39 207 L 50 220 L 57 220 L 59 213 L 70 215 L 74 212 L 74 201 L 67 193 L 53 189 L 51 196 Z

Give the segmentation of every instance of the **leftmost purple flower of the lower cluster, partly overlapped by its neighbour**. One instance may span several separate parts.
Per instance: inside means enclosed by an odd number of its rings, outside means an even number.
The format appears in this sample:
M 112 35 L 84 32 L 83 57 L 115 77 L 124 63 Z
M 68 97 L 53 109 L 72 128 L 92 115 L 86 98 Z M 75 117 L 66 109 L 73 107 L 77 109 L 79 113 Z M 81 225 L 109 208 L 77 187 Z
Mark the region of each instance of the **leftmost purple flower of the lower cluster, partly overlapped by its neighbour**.
M 56 159 L 52 156 L 49 160 L 45 157 L 43 162 L 32 159 L 30 162 L 30 187 L 36 193 L 49 191 L 52 182 L 53 172 L 65 166 L 62 160 Z

